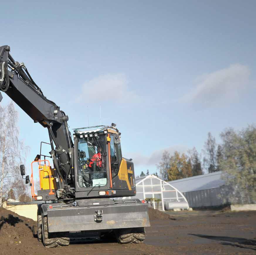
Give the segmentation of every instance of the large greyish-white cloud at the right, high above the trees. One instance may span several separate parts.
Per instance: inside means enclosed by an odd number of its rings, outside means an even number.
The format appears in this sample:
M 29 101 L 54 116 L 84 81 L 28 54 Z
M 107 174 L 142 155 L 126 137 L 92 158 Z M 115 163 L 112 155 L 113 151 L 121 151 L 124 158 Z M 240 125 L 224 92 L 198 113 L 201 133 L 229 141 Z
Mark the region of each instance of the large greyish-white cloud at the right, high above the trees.
M 241 64 L 204 74 L 196 79 L 196 86 L 181 97 L 179 102 L 203 104 L 206 107 L 230 102 L 248 86 L 249 76 L 249 68 Z

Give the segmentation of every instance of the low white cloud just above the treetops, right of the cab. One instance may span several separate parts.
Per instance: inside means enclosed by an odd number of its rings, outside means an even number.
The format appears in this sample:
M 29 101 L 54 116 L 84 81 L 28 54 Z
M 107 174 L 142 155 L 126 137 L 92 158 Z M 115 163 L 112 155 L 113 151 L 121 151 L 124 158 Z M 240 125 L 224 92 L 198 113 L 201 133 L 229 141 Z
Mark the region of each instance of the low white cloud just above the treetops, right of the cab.
M 177 145 L 177 146 L 170 146 L 168 148 L 164 148 L 161 150 L 155 150 L 151 155 L 146 156 L 140 153 L 129 153 L 131 158 L 133 159 L 134 165 L 143 165 L 143 166 L 150 166 L 150 165 L 157 165 L 159 164 L 163 152 L 167 150 L 170 155 L 174 154 L 174 151 L 178 151 L 179 153 L 185 153 L 187 152 L 188 148 L 186 146 Z

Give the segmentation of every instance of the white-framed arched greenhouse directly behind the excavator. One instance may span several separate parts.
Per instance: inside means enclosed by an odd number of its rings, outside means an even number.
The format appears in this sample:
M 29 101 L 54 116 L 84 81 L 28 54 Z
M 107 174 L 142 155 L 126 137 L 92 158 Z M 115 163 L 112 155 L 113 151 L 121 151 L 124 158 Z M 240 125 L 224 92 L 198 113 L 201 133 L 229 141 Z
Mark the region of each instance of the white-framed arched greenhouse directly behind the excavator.
M 135 197 L 123 197 L 120 199 L 138 198 L 140 200 L 146 198 L 158 198 L 161 202 L 152 202 L 152 207 L 158 210 L 170 210 L 174 208 L 189 209 L 187 199 L 183 194 L 174 188 L 168 182 L 156 177 L 154 174 L 139 177 L 135 179 L 136 196 Z M 149 202 L 149 206 L 151 203 Z

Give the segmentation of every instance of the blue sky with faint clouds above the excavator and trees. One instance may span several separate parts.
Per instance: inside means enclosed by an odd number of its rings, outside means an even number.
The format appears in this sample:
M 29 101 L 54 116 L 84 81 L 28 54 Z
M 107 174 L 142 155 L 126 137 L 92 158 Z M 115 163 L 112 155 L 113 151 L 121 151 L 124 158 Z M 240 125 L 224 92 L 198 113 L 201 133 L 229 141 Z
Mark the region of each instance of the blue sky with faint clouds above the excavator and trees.
M 156 172 L 164 150 L 201 152 L 209 131 L 220 143 L 226 127 L 255 123 L 255 1 L 5 1 L 1 10 L 1 45 L 70 129 L 116 123 L 136 175 Z M 48 132 L 16 109 L 29 172 Z

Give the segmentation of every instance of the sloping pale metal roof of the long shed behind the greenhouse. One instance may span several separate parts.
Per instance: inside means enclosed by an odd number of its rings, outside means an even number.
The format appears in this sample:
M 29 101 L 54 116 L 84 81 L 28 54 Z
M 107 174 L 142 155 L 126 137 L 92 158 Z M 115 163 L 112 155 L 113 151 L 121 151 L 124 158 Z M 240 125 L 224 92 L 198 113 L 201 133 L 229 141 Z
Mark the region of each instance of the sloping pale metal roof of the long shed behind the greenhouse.
M 202 174 L 189 178 L 179 179 L 168 183 L 183 193 L 196 190 L 219 188 L 225 184 L 225 181 L 221 179 L 221 171 L 218 171 L 211 174 Z

